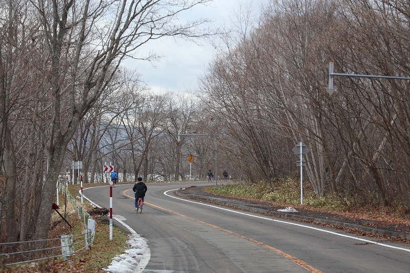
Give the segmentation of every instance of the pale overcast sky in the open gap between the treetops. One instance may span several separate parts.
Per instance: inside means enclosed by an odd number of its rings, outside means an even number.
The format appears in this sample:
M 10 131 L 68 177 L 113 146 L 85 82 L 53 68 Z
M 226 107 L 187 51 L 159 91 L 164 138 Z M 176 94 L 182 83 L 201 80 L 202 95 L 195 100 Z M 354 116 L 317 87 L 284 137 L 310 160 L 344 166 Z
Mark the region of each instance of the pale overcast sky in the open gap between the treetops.
M 251 3 L 254 13 L 258 14 L 259 4 L 268 0 L 214 0 L 210 6 L 198 5 L 194 9 L 181 14 L 183 19 L 209 18 L 214 25 L 231 25 L 232 13 L 242 3 Z M 215 48 L 206 41 L 201 41 L 202 46 L 193 42 L 178 40 L 175 43 L 172 38 L 152 40 L 144 50 L 155 51 L 164 57 L 154 62 L 155 68 L 150 62 L 128 59 L 124 65 L 131 69 L 137 69 L 142 74 L 142 80 L 154 92 L 184 92 L 198 88 L 197 79 L 207 69 L 209 61 L 215 53 Z

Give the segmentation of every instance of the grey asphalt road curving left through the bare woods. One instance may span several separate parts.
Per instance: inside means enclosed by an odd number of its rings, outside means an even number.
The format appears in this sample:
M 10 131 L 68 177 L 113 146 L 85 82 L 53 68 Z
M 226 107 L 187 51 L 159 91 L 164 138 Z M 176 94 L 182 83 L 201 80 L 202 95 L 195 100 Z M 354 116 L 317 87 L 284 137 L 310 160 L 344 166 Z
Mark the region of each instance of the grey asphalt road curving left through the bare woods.
M 314 224 L 183 200 L 174 190 L 206 182 L 147 184 L 142 214 L 132 184 L 113 188 L 113 214 L 145 238 L 143 272 L 410 272 L 410 248 Z M 84 195 L 109 208 L 109 187 Z

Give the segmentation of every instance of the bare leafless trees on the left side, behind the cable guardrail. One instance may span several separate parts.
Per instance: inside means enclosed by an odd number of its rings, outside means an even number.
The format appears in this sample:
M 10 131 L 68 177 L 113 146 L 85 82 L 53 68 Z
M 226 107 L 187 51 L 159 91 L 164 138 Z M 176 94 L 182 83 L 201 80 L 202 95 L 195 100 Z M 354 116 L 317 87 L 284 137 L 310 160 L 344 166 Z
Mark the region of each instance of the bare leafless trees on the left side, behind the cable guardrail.
M 143 159 L 128 171 L 140 171 L 167 101 L 138 96 L 144 89 L 137 87 L 138 75 L 121 69 L 121 62 L 157 59 L 138 51 L 153 39 L 212 34 L 207 19 L 178 19 L 207 2 L 0 1 L 1 242 L 47 238 L 56 182 L 67 162 L 85 160 L 84 171 L 99 173 L 92 163 L 119 143 L 114 134 L 121 123 L 138 125 L 127 133 Z M 141 156 L 130 145 L 128 151 Z

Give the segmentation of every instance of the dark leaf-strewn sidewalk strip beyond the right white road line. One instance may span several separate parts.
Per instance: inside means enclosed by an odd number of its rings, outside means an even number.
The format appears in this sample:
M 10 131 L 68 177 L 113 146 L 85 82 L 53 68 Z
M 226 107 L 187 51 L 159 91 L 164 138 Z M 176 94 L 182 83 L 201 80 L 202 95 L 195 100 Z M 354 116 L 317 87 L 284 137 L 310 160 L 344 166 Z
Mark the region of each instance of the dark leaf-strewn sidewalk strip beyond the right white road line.
M 408 225 L 389 224 L 382 220 L 368 220 L 360 217 L 346 217 L 345 214 L 309 210 L 306 207 L 297 207 L 297 212 L 292 212 L 291 209 L 288 209 L 285 212 L 278 212 L 278 209 L 285 209 L 285 207 L 275 206 L 270 202 L 214 195 L 202 191 L 202 188 L 203 187 L 197 186 L 181 188 L 176 192 L 176 195 L 187 199 L 194 199 L 198 201 L 239 208 L 244 211 L 250 211 L 279 218 L 294 219 L 317 224 L 329 224 L 336 227 L 353 229 L 356 231 L 360 230 L 364 233 L 385 235 L 388 237 L 404 238 L 410 240 L 410 226 Z

